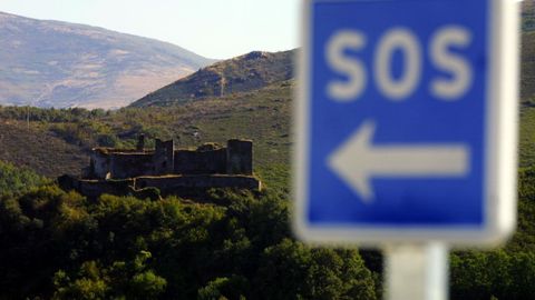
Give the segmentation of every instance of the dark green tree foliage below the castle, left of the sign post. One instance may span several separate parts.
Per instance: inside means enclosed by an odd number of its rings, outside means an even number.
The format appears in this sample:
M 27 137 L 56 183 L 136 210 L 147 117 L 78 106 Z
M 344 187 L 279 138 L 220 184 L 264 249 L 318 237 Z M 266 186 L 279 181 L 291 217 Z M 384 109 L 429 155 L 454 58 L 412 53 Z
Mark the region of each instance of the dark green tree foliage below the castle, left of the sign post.
M 0 298 L 376 299 L 357 250 L 290 239 L 288 202 L 212 190 L 206 202 L 55 186 L 0 200 Z

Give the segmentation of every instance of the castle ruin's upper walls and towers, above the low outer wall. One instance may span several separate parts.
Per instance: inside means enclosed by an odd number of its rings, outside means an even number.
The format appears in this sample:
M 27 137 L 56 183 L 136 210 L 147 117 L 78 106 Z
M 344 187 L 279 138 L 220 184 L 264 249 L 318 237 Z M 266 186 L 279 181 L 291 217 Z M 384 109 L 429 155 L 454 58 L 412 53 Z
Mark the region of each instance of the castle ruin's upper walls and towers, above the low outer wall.
M 156 139 L 155 149 L 95 148 L 84 178 L 126 179 L 165 174 L 245 174 L 253 173 L 253 142 L 228 140 L 226 147 L 206 143 L 195 150 L 175 149 L 173 140 Z

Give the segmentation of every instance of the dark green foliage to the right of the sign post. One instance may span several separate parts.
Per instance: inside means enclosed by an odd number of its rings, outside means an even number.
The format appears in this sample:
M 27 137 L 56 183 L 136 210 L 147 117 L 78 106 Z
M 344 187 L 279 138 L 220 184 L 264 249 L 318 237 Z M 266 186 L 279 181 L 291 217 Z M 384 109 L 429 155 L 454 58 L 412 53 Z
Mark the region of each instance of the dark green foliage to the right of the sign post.
M 518 229 L 494 251 L 461 251 L 451 258 L 451 299 L 535 297 L 535 169 L 518 172 Z

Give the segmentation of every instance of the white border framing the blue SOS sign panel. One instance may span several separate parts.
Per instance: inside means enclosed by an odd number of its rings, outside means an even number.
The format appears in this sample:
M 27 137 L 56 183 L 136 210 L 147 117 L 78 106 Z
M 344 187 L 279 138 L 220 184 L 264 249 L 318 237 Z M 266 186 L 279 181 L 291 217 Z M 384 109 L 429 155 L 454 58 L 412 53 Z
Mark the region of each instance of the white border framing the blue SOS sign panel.
M 516 178 L 518 142 L 518 59 L 519 26 L 516 0 L 488 0 L 489 77 L 484 167 L 484 224 L 474 227 L 359 227 L 333 224 L 312 227 L 307 221 L 310 126 L 311 17 L 313 3 L 347 2 L 348 0 L 304 0 L 301 23 L 301 49 L 298 53 L 298 89 L 294 101 L 293 128 L 296 149 L 293 152 L 293 229 L 303 241 L 312 243 L 359 242 L 381 246 L 392 242 L 440 241 L 457 246 L 496 244 L 503 242 L 516 227 Z

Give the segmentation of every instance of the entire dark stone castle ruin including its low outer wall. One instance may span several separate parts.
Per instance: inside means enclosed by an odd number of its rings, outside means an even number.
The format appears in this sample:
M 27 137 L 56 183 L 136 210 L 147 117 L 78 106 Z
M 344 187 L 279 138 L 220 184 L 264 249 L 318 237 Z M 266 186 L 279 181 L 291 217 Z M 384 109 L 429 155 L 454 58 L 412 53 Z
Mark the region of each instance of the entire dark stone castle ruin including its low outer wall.
M 173 140 L 156 139 L 155 148 L 146 149 L 144 136 L 135 149 L 94 148 L 81 178 L 64 176 L 59 182 L 91 198 L 136 196 L 147 188 L 177 196 L 208 188 L 261 189 L 253 176 L 250 140 L 232 139 L 226 147 L 205 143 L 188 150 L 175 149 Z

